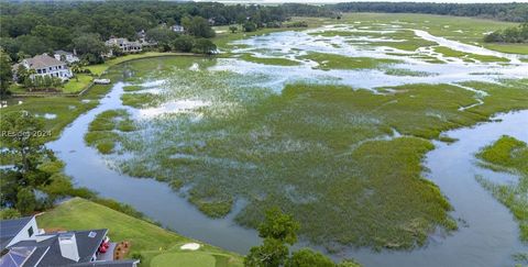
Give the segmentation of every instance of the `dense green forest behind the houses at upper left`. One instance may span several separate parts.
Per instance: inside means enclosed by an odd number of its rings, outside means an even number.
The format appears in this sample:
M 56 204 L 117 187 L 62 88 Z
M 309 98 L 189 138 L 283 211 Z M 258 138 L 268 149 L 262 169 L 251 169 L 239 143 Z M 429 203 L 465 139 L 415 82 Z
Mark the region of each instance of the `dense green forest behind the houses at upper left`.
M 0 46 L 15 62 L 54 49 L 76 48 L 81 54 L 89 54 L 90 63 L 98 63 L 101 58 L 97 57 L 105 48 L 102 42 L 110 36 L 135 40 L 138 32 L 161 25 L 185 24 L 190 35 L 208 38 L 215 35 L 210 25 L 250 22 L 255 27 L 262 27 L 279 25 L 292 15 L 323 16 L 332 13 L 328 8 L 308 4 L 227 5 L 167 1 L 24 1 L 0 4 Z

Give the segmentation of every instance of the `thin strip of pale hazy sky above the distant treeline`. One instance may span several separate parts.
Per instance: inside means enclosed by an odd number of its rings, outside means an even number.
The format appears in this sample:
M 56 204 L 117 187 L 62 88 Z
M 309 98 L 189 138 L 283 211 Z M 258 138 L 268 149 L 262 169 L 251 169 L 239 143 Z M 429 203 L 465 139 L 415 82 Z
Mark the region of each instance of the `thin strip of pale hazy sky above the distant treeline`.
M 211 0 L 196 0 L 196 2 L 210 2 Z M 279 2 L 301 2 L 301 3 L 334 3 L 334 2 L 450 2 L 450 3 L 504 3 L 514 2 L 514 0 L 217 0 L 217 2 L 252 2 L 252 3 L 279 3 Z M 515 2 L 528 2 L 528 0 L 516 0 Z

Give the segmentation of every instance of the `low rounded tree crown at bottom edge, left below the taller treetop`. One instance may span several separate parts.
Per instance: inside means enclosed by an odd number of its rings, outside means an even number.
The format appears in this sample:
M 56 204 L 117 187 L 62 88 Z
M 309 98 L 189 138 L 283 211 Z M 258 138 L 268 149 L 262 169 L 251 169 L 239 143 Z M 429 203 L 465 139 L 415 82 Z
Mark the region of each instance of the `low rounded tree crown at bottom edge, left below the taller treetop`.
M 264 244 L 250 249 L 244 258 L 248 267 L 278 267 L 288 257 L 288 247 L 279 240 L 266 238 Z

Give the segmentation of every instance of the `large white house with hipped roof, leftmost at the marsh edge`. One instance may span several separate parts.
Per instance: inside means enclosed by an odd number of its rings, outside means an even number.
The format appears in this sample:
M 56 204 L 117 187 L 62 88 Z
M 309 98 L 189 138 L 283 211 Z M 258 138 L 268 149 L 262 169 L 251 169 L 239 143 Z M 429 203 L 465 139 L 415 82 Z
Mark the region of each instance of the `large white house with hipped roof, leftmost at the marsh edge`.
M 26 69 L 35 70 L 30 78 L 34 79 L 37 76 L 45 77 L 56 77 L 62 80 L 67 80 L 74 75 L 69 70 L 66 63 L 57 60 L 54 57 L 51 57 L 46 54 L 36 55 L 32 58 L 23 59 L 21 63 Z

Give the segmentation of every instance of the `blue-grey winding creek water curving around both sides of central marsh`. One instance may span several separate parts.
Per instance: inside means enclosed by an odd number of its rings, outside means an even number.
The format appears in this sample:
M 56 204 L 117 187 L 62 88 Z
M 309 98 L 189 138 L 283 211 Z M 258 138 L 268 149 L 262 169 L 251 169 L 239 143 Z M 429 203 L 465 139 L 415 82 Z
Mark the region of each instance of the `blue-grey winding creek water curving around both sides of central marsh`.
M 306 37 L 308 36 L 306 35 Z M 217 68 L 251 71 L 256 65 L 250 63 L 230 65 L 230 60 L 234 59 L 226 59 Z M 229 68 L 228 66 L 237 67 Z M 466 69 L 463 78 L 459 79 L 458 77 L 462 76 L 451 75 L 450 71 L 454 71 L 453 68 L 440 70 L 446 66 L 430 65 L 430 70 L 449 71 L 444 75 L 450 78 L 449 82 L 457 82 L 469 79 L 470 71 L 490 70 L 490 68 L 494 70 L 496 68 L 504 75 L 518 78 L 521 76 L 520 67 L 526 67 L 526 65 L 513 67 L 473 65 L 473 68 L 470 69 L 466 64 L 453 66 Z M 273 69 L 263 65 L 260 65 L 258 68 L 260 71 L 279 71 L 279 68 Z M 312 74 L 310 71 L 322 71 L 311 70 L 311 68 L 304 70 L 309 70 L 305 73 L 306 75 Z M 296 73 L 299 75 L 302 70 Z M 327 71 L 328 74 L 340 75 L 339 71 Z M 358 73 L 358 77 L 365 82 L 376 80 L 365 74 L 383 76 L 380 71 Z M 287 82 L 286 76 L 287 74 L 282 75 L 284 80 L 275 86 L 283 87 Z M 444 76 L 440 75 L 439 78 L 435 78 L 437 80 L 433 82 L 448 81 L 447 78 L 443 80 Z M 430 78 L 415 77 L 413 79 L 421 81 Z M 406 82 L 409 81 L 409 77 L 393 77 L 392 79 L 385 77 L 382 80 L 377 79 L 376 82 L 397 85 L 404 82 L 404 79 Z M 128 109 L 132 113 L 138 112 L 135 109 L 122 105 L 120 96 L 123 93 L 123 86 L 125 86 L 123 82 L 113 85 L 111 91 L 101 99 L 96 109 L 77 118 L 72 125 L 65 129 L 59 140 L 48 144 L 48 147 L 66 163 L 65 173 L 73 177 L 76 186 L 87 187 L 99 192 L 101 197 L 131 204 L 147 216 L 183 235 L 226 249 L 245 254 L 251 246 L 258 244 L 260 238 L 255 231 L 243 229 L 233 222 L 233 216 L 241 209 L 242 203 L 238 203 L 234 211 L 227 218 L 211 220 L 190 205 L 186 199 L 175 193 L 166 183 L 123 175 L 109 167 L 109 163 L 103 156 L 85 144 L 84 135 L 97 114 L 111 109 Z M 378 85 L 372 85 L 372 87 Z M 440 187 L 454 207 L 452 215 L 461 219 L 459 231 L 449 236 L 443 236 L 441 233 L 435 234 L 426 247 L 413 252 L 375 253 L 370 249 L 350 249 L 333 256 L 336 258 L 354 257 L 364 266 L 512 266 L 512 254 L 527 251 L 527 248 L 519 242 L 518 226 L 513 220 L 513 215 L 476 182 L 475 175 L 482 174 L 486 178 L 498 181 L 512 179 L 512 177 L 477 167 L 474 162 L 474 153 L 503 134 L 528 142 L 528 126 L 526 126 L 528 125 L 528 111 L 501 114 L 495 119 L 493 122 L 444 133 L 458 141 L 453 144 L 436 142 L 436 149 L 429 152 L 425 160 L 425 165 L 429 169 L 425 176 Z

